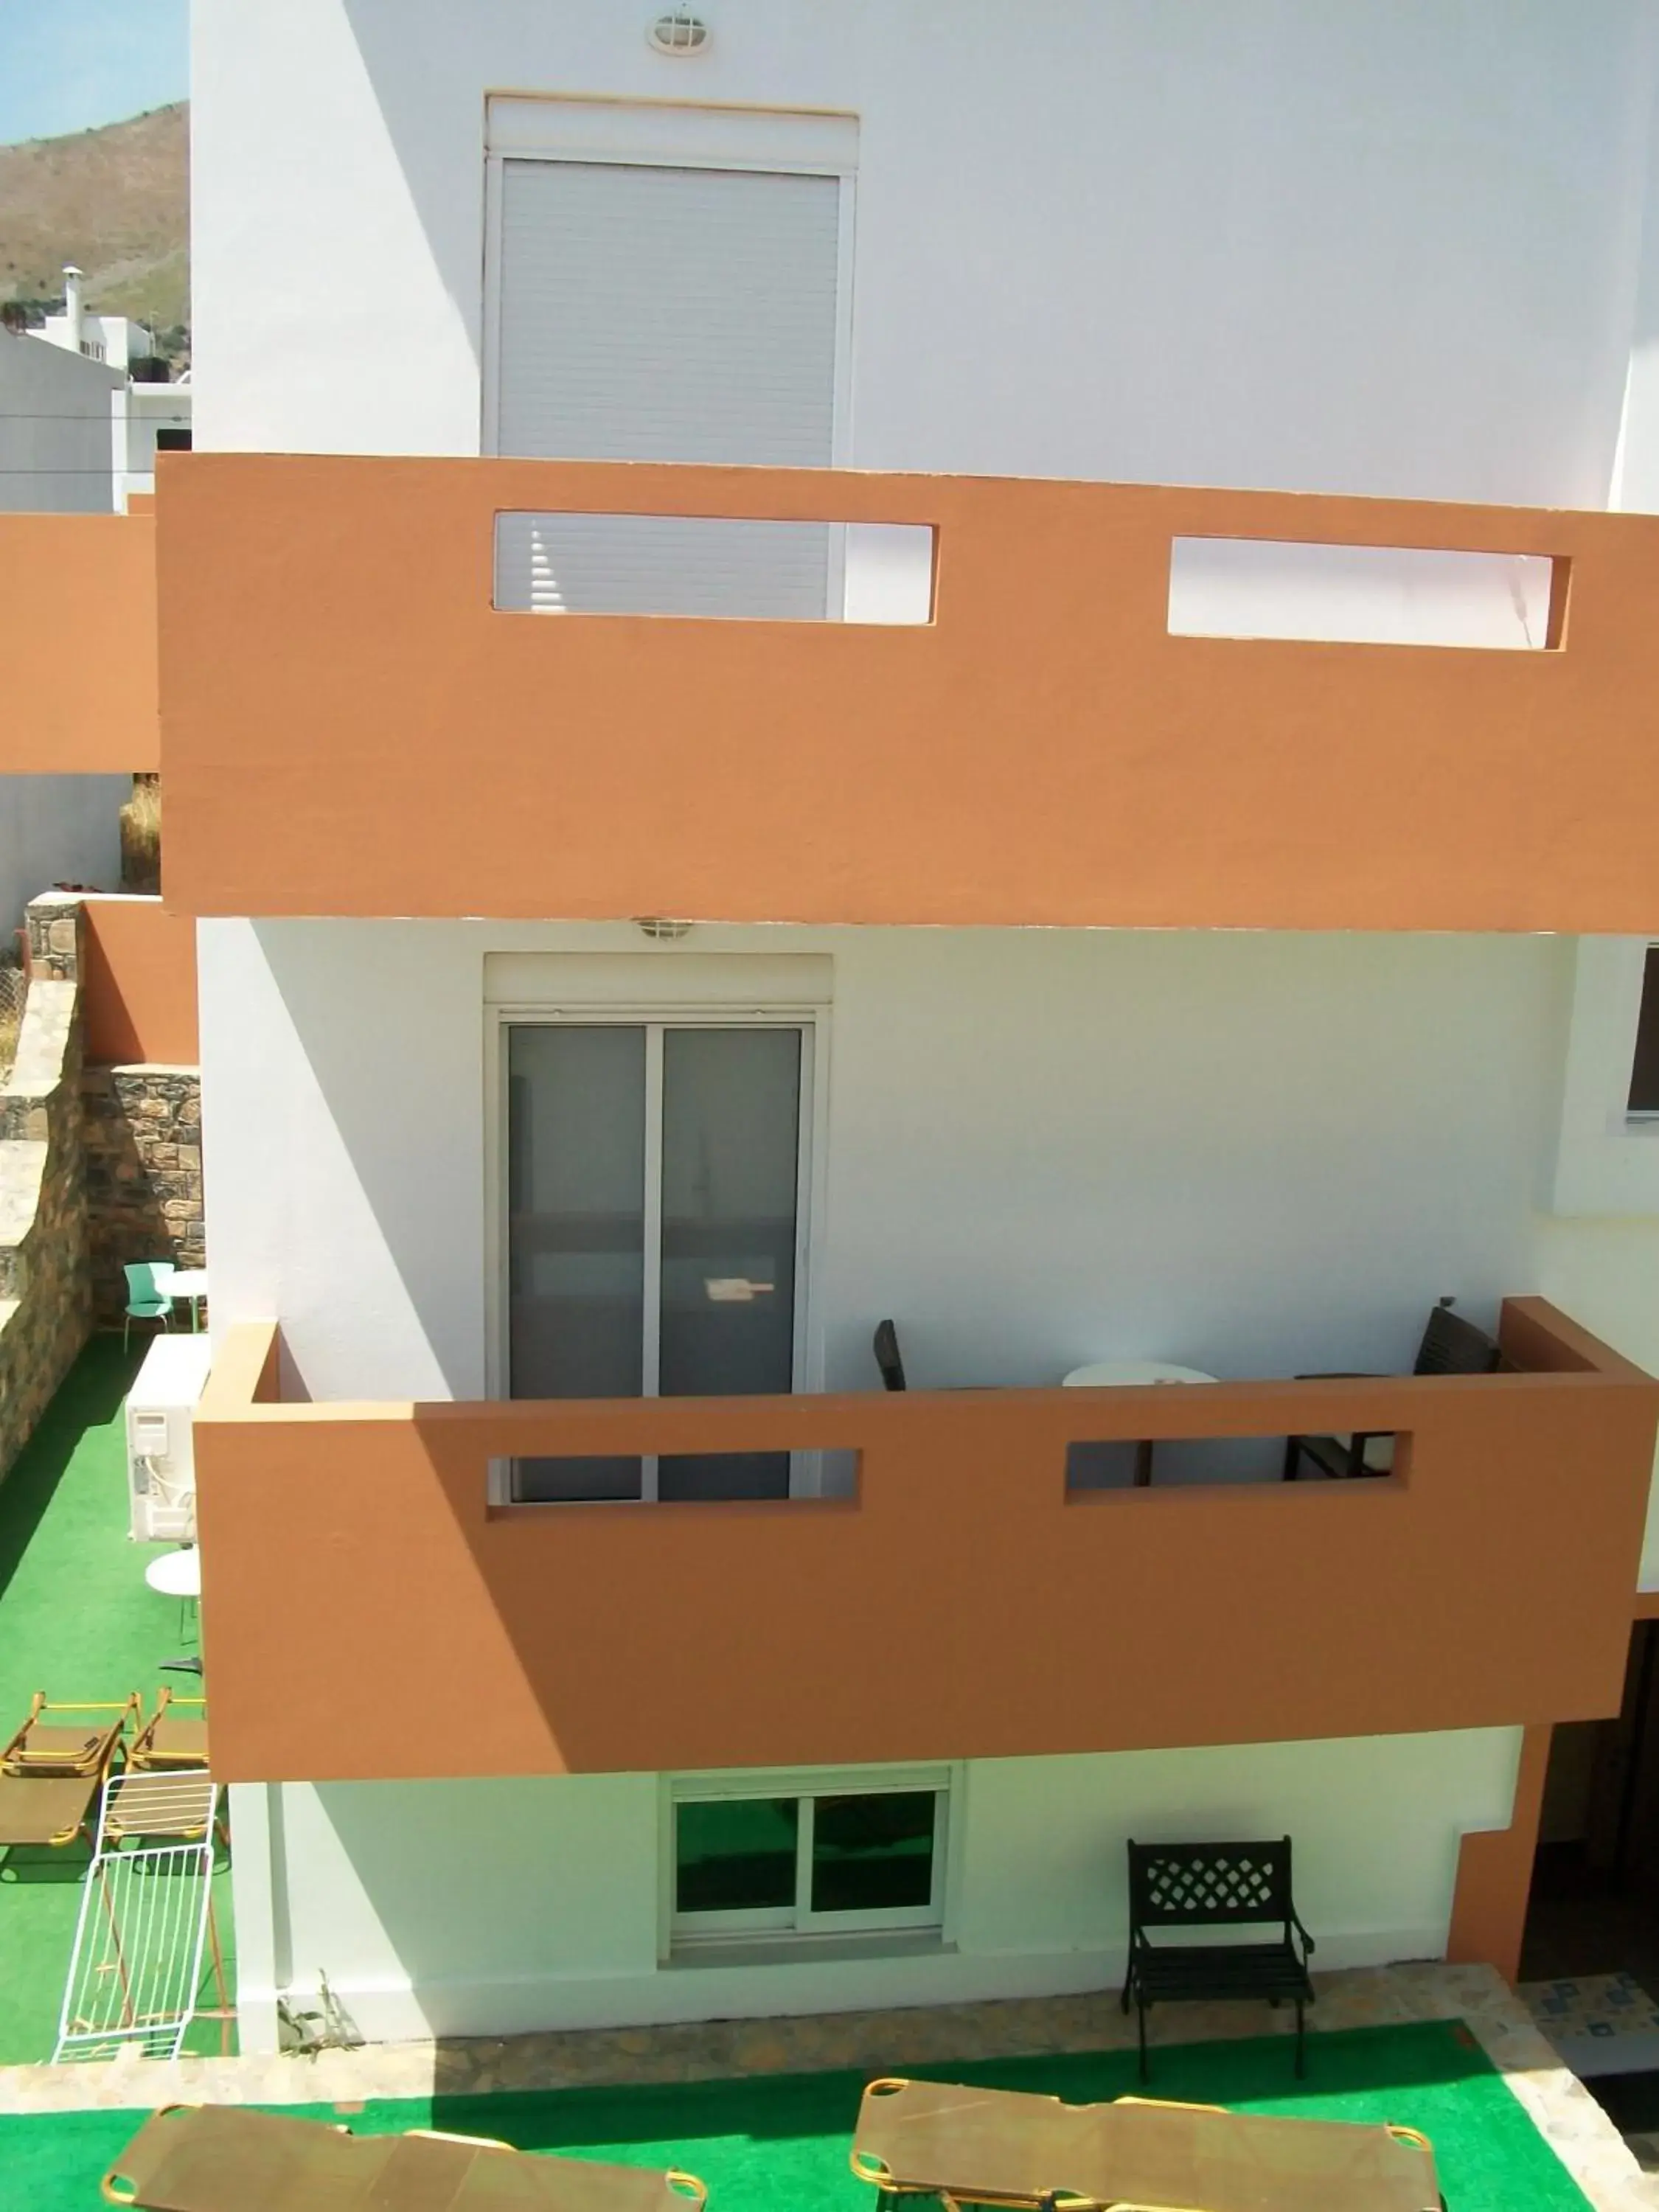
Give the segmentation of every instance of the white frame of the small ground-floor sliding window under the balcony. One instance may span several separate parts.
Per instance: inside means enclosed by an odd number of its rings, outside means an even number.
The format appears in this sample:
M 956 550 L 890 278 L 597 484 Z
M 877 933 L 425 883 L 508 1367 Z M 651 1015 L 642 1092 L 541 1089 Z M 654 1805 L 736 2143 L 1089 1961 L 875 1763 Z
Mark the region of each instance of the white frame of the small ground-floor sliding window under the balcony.
M 723 1913 L 679 1913 L 675 1909 L 675 1814 L 679 1805 L 710 1803 L 717 1798 L 799 1798 L 821 1796 L 898 1796 L 909 1792 L 933 1792 L 933 1880 L 927 1905 L 891 1907 L 869 1913 L 814 1913 L 812 1911 L 812 1834 L 814 1816 L 803 1809 L 796 1823 L 796 1871 L 794 1905 L 757 1911 Z M 847 1770 L 785 1770 L 768 1772 L 743 1767 L 721 1774 L 666 1774 L 659 1792 L 659 1851 L 661 1900 L 659 1958 L 686 1958 L 703 1949 L 728 1949 L 741 1944 L 772 1947 L 785 1942 L 801 1949 L 834 1944 L 836 1940 L 858 1940 L 869 1936 L 918 1938 L 936 1936 L 945 1940 L 953 1840 L 962 1816 L 962 1770 L 960 1765 L 925 1767 L 847 1767 Z

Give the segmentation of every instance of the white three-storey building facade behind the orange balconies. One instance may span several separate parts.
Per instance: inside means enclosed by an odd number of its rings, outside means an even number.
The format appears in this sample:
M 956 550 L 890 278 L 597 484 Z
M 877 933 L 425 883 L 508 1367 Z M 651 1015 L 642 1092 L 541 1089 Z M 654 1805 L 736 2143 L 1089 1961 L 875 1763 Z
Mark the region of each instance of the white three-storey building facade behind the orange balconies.
M 703 13 L 706 49 L 668 58 L 626 0 L 197 9 L 197 449 L 1659 509 L 1644 0 Z M 323 301 L 323 268 L 372 281 Z M 832 599 L 880 597 L 858 540 L 549 518 L 502 538 L 498 604 L 790 617 L 825 564 Z M 1358 615 L 1354 591 L 1334 611 L 1318 580 L 1274 588 L 1296 635 L 1398 617 L 1535 644 L 1522 564 L 1489 586 L 1451 615 L 1400 562 L 1360 577 Z M 456 730 L 462 781 L 465 761 Z M 887 1316 L 914 1389 L 1095 1360 L 1405 1371 L 1436 1298 L 1491 1327 L 1517 1292 L 1655 1363 L 1644 956 L 1542 933 L 210 918 L 215 1329 L 279 1321 L 312 1400 L 860 1391 Z M 681 1263 L 703 1270 L 690 1303 Z M 832 1453 L 774 1458 L 493 1480 L 549 1513 L 841 1495 Z M 1276 1478 L 1276 1447 L 1159 1447 L 1159 1482 Z M 1630 1566 L 1659 1590 L 1659 1520 Z M 710 1635 L 741 1601 L 710 1593 Z M 1179 1593 L 1172 1619 L 1225 1668 L 1225 1624 L 1183 1621 Z M 847 1635 L 878 1626 L 849 1608 Z M 1110 1590 L 1077 1663 L 1139 1663 Z M 925 1750 L 241 1783 L 246 2046 L 319 1969 L 376 2037 L 1102 1986 L 1128 1836 L 1294 1834 L 1321 1964 L 1440 1955 L 1462 1840 L 1511 1823 L 1522 1714 Z M 927 1801 L 927 1871 L 836 1918 L 814 1838 L 854 1798 Z M 699 1902 L 686 1807 L 710 1803 L 754 1807 L 757 1865 L 781 1849 L 768 1820 L 807 1838 L 787 1896 L 750 1867 L 748 1893 Z

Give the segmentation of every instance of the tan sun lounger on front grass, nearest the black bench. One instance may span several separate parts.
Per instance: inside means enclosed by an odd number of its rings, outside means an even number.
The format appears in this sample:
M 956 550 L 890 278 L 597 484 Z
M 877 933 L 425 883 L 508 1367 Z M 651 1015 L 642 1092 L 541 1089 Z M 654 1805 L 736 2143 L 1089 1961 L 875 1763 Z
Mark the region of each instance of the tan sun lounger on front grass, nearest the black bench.
M 1413 2128 L 1219 2106 L 1062 2104 L 947 2081 L 872 2081 L 852 2170 L 883 2194 L 1099 2212 L 1440 2212 Z

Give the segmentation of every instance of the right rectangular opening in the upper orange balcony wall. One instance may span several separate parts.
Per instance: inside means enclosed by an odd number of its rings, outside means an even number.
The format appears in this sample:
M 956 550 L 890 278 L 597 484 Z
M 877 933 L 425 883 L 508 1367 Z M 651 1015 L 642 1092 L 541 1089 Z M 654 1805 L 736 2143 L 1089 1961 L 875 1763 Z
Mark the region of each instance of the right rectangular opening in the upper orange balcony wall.
M 1546 553 L 1177 538 L 1172 637 L 1551 653 L 1566 633 L 1568 562 Z

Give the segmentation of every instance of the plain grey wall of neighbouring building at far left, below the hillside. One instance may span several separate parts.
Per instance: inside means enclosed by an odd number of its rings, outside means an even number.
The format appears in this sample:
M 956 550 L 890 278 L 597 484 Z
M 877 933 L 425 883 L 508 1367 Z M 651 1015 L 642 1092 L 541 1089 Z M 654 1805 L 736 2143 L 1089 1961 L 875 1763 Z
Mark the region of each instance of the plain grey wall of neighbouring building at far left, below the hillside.
M 111 511 L 111 394 L 124 378 L 0 332 L 0 513 Z

